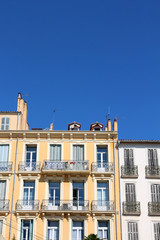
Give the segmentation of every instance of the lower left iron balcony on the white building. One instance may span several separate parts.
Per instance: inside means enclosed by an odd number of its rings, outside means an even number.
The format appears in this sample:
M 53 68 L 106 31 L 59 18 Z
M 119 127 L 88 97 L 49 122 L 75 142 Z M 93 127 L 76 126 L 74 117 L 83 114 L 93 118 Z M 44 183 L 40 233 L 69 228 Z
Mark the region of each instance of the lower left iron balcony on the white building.
M 140 214 L 140 202 L 123 202 L 123 215 L 139 216 Z

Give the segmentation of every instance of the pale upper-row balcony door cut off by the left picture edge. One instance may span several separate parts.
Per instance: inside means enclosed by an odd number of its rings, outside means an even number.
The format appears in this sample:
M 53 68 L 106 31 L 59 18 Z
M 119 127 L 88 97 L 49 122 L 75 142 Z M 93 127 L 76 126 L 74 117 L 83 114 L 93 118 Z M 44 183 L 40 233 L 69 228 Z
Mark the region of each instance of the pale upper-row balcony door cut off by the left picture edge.
M 0 145 L 0 171 L 8 170 L 9 145 Z

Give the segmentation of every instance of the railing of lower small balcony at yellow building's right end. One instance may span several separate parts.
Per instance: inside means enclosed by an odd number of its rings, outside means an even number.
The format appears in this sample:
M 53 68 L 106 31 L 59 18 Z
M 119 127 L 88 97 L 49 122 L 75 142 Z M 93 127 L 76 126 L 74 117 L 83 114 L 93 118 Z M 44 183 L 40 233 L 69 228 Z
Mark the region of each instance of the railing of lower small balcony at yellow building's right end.
M 92 211 L 114 211 L 114 201 L 92 201 Z

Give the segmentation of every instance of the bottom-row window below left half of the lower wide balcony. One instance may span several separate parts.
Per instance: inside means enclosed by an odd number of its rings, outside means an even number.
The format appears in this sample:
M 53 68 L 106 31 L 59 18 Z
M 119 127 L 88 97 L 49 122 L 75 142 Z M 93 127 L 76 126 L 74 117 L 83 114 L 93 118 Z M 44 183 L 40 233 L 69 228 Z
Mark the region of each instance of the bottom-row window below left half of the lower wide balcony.
M 48 221 L 47 229 L 47 239 L 48 240 L 58 240 L 59 239 L 59 222 L 58 221 Z

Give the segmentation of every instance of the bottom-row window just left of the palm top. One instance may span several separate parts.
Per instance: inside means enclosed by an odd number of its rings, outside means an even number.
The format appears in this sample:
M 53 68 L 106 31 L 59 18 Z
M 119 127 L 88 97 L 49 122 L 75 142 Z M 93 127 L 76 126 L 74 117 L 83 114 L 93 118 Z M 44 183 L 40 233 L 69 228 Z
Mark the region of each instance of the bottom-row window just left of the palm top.
M 83 221 L 73 221 L 72 222 L 72 240 L 83 240 L 84 238 L 84 223 Z

